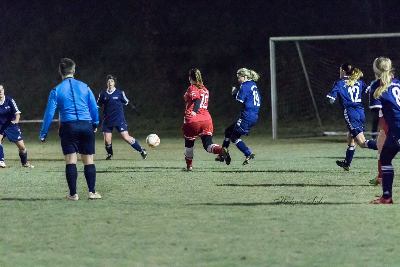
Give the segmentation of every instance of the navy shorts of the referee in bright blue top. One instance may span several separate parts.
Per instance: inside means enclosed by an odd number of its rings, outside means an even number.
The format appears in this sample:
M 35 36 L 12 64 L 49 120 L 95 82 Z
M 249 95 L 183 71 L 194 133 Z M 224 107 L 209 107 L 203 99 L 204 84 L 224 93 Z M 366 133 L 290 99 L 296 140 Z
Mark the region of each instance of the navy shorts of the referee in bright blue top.
M 58 132 L 64 155 L 80 153 L 94 154 L 94 130 L 91 121 L 78 120 L 61 122 Z

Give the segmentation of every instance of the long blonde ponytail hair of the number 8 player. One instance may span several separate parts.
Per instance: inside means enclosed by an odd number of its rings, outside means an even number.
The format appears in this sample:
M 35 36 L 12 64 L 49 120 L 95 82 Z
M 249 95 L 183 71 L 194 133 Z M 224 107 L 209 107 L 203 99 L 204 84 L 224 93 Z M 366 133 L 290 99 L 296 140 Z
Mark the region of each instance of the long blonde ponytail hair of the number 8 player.
M 384 92 L 386 92 L 392 82 L 392 60 L 380 56 L 374 60 L 374 72 L 377 78 L 380 77 L 380 85 L 374 92 L 374 98 L 378 99 Z

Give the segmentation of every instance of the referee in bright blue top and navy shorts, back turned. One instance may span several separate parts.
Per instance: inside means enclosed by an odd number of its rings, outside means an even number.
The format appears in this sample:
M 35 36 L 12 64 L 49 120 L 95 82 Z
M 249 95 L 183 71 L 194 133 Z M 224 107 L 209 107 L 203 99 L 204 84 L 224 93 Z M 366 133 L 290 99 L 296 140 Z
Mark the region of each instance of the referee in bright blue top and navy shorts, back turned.
M 96 167 L 94 166 L 94 132 L 99 123 L 98 108 L 92 90 L 84 82 L 74 79 L 75 63 L 69 58 L 62 58 L 58 65 L 62 82 L 50 92 L 44 113 L 40 141 L 46 141 L 50 123 L 56 108 L 60 112 L 61 127 L 59 135 L 62 152 L 65 156 L 65 175 L 70 195 L 67 200 L 78 200 L 76 193 L 77 153 L 80 153 L 84 164 L 84 173 L 89 188 L 89 199 L 101 199 L 94 190 L 96 184 Z

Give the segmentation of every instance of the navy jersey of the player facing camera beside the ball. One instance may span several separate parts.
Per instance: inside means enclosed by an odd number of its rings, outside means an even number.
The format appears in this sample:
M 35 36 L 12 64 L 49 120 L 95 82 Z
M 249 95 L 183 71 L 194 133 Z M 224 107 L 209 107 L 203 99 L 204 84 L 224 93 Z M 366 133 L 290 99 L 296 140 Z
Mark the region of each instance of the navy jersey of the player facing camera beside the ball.
M 103 126 L 119 126 L 125 122 L 123 104 L 128 104 L 124 91 L 114 88 L 112 92 L 103 90 L 99 94 L 97 106 L 100 108 L 104 105 L 103 110 Z

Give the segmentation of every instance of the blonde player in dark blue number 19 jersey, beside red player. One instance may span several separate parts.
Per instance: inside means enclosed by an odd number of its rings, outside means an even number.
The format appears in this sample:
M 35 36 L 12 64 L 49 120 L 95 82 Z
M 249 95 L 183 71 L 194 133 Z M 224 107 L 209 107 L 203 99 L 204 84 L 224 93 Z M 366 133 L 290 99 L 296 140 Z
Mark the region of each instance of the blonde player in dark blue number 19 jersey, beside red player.
M 240 137 L 242 135 L 248 135 L 250 128 L 256 123 L 258 118 L 261 97 L 258 93 L 256 81 L 260 78 L 260 75 L 254 70 L 241 68 L 238 70 L 237 76 L 240 88 L 236 89 L 234 87 L 232 89 L 232 95 L 236 94 L 236 100 L 242 103 L 242 111 L 240 112 L 240 118 L 225 129 L 222 147 L 228 148 L 230 142 L 234 143 L 246 157 L 243 165 L 247 165 L 250 160 L 254 159 L 255 155 L 246 147 Z M 218 155 L 215 160 L 223 162 L 224 157 Z M 226 162 L 226 165 L 229 165 L 229 163 L 230 162 Z

